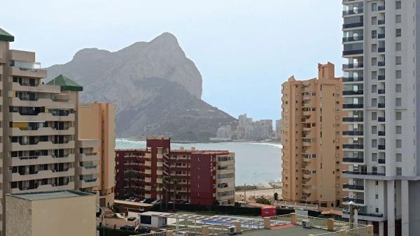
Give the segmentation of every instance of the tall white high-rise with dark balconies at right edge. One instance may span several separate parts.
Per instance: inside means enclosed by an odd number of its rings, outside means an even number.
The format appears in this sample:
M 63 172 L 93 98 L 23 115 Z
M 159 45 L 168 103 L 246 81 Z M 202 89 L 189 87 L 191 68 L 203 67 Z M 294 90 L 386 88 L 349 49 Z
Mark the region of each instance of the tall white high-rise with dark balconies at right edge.
M 419 3 L 343 0 L 344 217 L 380 236 L 420 235 Z

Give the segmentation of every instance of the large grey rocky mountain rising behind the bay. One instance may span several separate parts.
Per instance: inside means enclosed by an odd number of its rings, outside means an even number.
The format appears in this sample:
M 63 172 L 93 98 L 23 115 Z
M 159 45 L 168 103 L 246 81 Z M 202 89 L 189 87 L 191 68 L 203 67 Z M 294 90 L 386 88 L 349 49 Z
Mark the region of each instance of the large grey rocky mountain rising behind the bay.
M 47 69 L 48 79 L 64 74 L 81 84 L 82 102 L 116 103 L 120 138 L 167 135 L 207 141 L 219 126 L 236 124 L 201 100 L 200 71 L 169 33 L 118 52 L 86 48 L 66 64 Z

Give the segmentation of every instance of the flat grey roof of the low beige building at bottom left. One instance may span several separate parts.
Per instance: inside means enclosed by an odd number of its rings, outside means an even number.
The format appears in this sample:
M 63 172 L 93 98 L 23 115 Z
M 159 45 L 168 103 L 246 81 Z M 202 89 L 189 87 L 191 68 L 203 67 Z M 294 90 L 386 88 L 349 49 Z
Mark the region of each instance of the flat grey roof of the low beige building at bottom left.
M 13 193 L 13 194 L 8 194 L 8 195 L 14 198 L 21 198 L 21 199 L 25 199 L 29 201 L 93 196 L 92 193 L 85 193 L 85 192 L 74 191 L 74 190 L 45 191 L 45 192 L 34 192 L 34 193 Z

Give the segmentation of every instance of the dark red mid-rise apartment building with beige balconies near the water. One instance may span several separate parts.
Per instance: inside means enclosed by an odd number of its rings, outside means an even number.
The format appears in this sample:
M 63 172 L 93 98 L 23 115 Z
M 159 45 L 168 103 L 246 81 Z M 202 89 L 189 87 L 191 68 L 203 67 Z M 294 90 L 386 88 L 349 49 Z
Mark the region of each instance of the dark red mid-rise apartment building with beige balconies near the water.
M 195 205 L 235 204 L 235 153 L 171 150 L 169 138 L 146 140 L 146 149 L 116 149 L 116 198 L 138 196 L 174 200 L 160 189 L 164 177 L 178 179 L 176 200 Z

